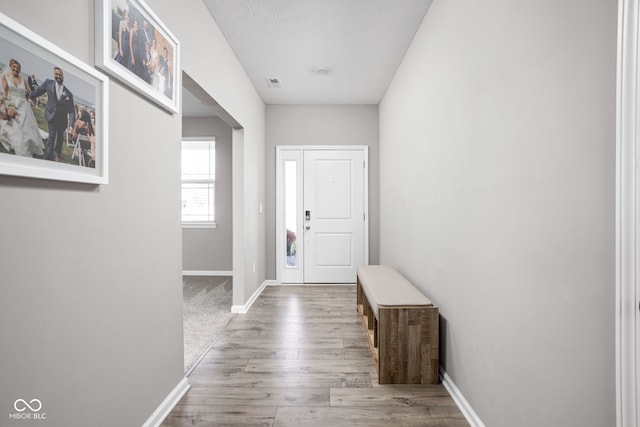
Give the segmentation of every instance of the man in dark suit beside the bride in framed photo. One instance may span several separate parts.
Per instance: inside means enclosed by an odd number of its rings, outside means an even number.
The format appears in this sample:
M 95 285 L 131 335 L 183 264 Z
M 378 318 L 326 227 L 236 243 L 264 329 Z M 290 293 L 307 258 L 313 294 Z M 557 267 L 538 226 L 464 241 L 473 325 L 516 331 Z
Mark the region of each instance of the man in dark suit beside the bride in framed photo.
M 32 91 L 29 94 L 29 99 L 36 99 L 43 93 L 47 93 L 44 117 L 49 124 L 49 138 L 44 147 L 44 154 L 47 160 L 59 162 L 61 160 L 64 132 L 75 124 L 76 110 L 73 104 L 73 95 L 64 86 L 64 74 L 59 67 L 53 69 L 53 77 L 54 80 L 47 79 L 36 90 Z

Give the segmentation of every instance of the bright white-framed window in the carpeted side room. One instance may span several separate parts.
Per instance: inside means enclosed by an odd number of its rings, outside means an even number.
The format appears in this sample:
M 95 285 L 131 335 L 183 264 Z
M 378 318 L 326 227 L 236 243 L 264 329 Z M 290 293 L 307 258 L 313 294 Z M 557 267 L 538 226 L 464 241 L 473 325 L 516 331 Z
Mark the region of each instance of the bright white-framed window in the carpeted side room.
M 215 227 L 215 139 L 182 141 L 182 225 Z

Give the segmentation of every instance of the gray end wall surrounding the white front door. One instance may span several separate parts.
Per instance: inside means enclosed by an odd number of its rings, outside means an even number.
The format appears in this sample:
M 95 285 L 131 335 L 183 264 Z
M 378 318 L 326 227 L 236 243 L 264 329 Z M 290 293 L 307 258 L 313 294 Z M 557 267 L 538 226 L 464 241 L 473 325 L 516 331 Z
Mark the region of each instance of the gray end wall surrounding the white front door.
M 378 106 L 267 105 L 267 277 L 276 278 L 276 145 L 369 146 L 369 262 L 378 263 Z

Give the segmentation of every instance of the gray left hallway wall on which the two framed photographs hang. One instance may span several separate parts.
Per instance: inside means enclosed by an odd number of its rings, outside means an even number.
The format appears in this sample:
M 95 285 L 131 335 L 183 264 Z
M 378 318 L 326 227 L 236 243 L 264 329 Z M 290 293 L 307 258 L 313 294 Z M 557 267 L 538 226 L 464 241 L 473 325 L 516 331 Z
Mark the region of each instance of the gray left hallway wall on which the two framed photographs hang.
M 264 104 L 200 0 L 179 13 L 172 0 L 147 4 L 182 43 L 184 69 L 244 127 L 251 154 L 239 161 L 253 173 L 238 194 L 257 206 Z M 2 12 L 94 63 L 93 2 L 4 2 Z M 3 425 L 18 398 L 40 399 L 47 420 L 16 425 L 142 425 L 183 377 L 180 116 L 115 81 L 109 95 L 108 185 L 0 176 Z M 264 281 L 257 212 L 240 215 L 255 234 L 236 245 L 247 261 L 234 259 L 234 303 Z

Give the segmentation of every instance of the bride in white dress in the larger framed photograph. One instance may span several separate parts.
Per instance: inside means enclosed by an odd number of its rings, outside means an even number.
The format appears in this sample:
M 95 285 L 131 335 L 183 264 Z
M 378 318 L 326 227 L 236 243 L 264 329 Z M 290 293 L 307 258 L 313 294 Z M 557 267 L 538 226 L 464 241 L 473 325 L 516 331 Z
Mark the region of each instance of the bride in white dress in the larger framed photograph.
M 3 70 L 0 78 L 2 83 L 0 111 L 15 108 L 17 112 L 11 115 L 12 117 L 0 117 L 0 143 L 7 151 L 13 150 L 17 156 L 33 157 L 34 154 L 41 156 L 44 154 L 44 143 L 36 117 L 26 98 L 31 90 L 25 79 L 20 76 L 20 69 L 20 63 L 11 59 L 9 69 Z

